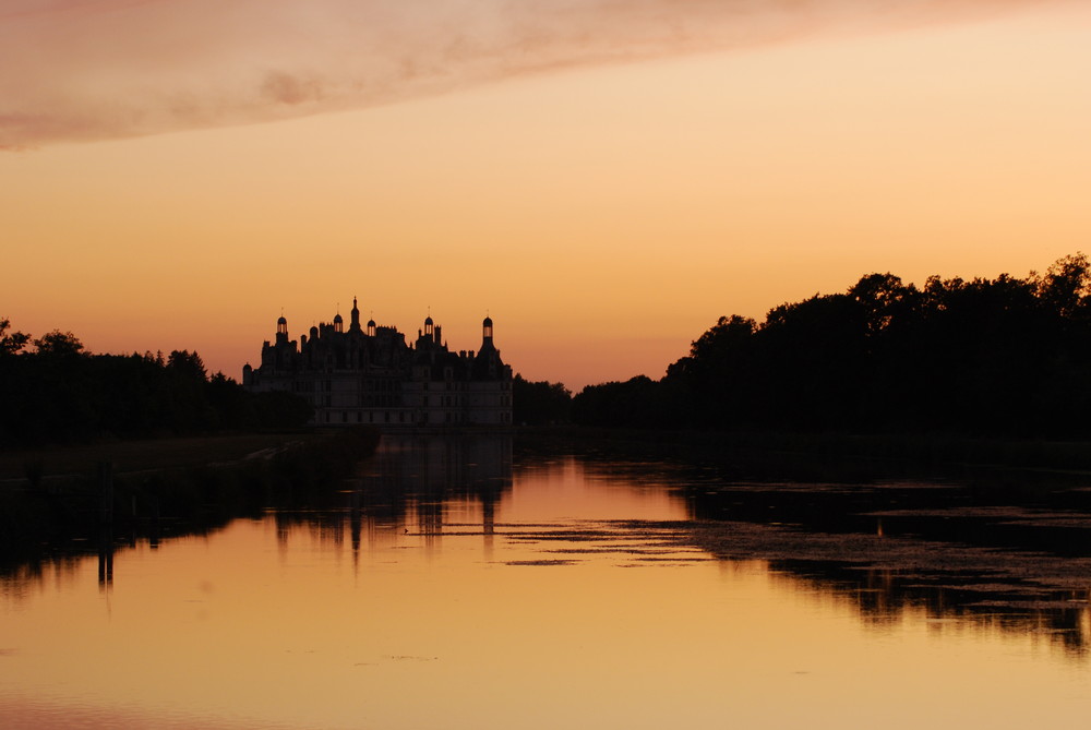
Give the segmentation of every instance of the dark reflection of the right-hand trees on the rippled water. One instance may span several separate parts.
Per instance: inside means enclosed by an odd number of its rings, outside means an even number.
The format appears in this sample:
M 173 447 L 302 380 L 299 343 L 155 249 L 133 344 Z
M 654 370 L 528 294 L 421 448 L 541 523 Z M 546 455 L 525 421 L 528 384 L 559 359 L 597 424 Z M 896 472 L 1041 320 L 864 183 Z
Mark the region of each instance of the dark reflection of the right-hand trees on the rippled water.
M 964 481 L 800 482 L 740 479 L 715 457 L 584 464 L 588 478 L 673 486 L 694 520 L 678 525 L 683 544 L 767 561 L 868 624 L 923 611 L 936 631 L 971 622 L 1081 656 L 1091 648 L 1086 475 L 978 468 Z

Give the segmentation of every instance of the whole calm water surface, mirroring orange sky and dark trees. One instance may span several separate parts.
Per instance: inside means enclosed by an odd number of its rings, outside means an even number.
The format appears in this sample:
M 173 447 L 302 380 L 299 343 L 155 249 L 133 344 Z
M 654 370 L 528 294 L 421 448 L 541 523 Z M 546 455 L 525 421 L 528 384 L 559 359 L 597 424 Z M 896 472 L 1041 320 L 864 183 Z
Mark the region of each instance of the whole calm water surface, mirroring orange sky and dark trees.
M 1082 513 L 958 493 L 391 441 L 341 508 L 3 577 L 0 726 L 1084 720 Z

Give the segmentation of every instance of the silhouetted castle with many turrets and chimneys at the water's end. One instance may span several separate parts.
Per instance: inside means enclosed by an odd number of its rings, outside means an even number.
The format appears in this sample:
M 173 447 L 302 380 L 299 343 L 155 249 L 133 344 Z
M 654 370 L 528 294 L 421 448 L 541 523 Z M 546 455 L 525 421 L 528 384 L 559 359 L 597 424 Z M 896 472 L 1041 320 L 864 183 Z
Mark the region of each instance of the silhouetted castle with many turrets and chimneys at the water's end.
M 373 424 L 386 431 L 508 427 L 512 368 L 492 342 L 492 319 L 482 322 L 481 347 L 453 352 L 429 315 L 417 340 L 394 327 L 360 325 L 352 299 L 348 330 L 340 313 L 320 323 L 299 343 L 288 339 L 288 321 L 262 346 L 262 363 L 242 369 L 252 392 L 289 391 L 314 407 L 316 426 Z

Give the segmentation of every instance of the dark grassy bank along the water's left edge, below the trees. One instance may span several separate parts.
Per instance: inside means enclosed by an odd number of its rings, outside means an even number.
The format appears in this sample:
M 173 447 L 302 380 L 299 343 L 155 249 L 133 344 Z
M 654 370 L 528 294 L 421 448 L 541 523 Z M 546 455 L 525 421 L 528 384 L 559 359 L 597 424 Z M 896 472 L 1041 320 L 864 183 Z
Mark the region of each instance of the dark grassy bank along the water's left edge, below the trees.
M 98 555 L 108 587 L 118 550 L 143 543 L 154 550 L 164 539 L 207 535 L 269 508 L 339 506 L 343 479 L 377 443 L 373 429 L 349 428 L 268 458 L 123 474 L 101 462 L 93 476 L 8 486 L 0 492 L 0 590 L 17 594 L 89 554 Z

